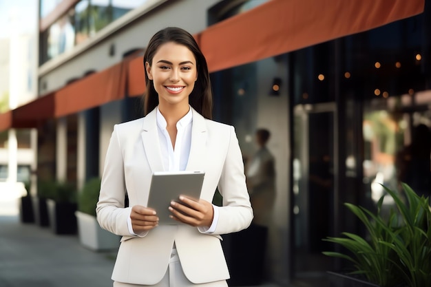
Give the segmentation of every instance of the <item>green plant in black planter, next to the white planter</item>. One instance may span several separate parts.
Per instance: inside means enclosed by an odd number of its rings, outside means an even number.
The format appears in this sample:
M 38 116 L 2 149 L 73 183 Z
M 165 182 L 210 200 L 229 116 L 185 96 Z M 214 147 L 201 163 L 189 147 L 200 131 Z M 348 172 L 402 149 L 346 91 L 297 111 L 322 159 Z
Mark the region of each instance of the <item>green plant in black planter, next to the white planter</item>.
M 76 234 L 76 189 L 70 182 L 53 183 L 52 194 L 46 201 L 50 226 L 55 234 Z

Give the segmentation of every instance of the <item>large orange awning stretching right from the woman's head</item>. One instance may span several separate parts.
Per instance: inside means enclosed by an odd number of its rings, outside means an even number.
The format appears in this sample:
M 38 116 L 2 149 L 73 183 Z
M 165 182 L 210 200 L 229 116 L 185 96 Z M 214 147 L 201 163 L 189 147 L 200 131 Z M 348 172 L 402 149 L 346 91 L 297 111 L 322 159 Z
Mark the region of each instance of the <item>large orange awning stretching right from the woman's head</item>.
M 377 28 L 423 7 L 424 0 L 272 0 L 210 26 L 200 47 L 215 72 Z

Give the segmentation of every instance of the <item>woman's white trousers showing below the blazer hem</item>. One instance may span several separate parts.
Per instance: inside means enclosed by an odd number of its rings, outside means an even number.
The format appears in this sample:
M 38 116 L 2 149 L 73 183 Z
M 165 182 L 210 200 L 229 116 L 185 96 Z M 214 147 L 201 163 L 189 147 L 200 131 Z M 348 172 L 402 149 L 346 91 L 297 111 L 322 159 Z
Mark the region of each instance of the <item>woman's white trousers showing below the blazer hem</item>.
M 214 281 L 203 284 L 194 284 L 184 275 L 182 271 L 180 258 L 176 252 L 176 248 L 172 249 L 171 259 L 169 260 L 169 266 L 163 279 L 155 285 L 139 285 L 139 284 L 127 284 L 123 282 L 114 281 L 114 287 L 227 287 L 226 280 Z

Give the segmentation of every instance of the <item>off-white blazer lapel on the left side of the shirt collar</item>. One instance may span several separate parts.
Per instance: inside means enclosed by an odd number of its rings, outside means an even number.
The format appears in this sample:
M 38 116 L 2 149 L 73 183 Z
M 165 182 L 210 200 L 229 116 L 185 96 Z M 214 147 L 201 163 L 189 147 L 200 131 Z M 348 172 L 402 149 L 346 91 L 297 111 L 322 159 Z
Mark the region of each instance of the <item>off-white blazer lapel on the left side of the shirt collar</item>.
M 149 167 L 153 172 L 164 170 L 162 157 L 160 155 L 156 118 L 156 109 L 154 109 L 145 116 L 143 131 L 140 134 L 143 140 L 145 155 L 147 156 Z

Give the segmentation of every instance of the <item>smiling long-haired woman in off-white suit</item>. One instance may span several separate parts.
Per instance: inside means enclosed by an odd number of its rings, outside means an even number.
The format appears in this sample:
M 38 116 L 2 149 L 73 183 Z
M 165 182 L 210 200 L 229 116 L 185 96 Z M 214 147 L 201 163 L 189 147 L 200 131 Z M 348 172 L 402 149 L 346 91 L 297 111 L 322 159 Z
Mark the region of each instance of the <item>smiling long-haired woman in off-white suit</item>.
M 211 120 L 207 63 L 191 34 L 160 30 L 144 65 L 146 115 L 114 126 L 96 207 L 99 224 L 123 236 L 114 286 L 227 286 L 220 235 L 253 219 L 235 131 Z M 151 175 L 178 170 L 205 171 L 200 200 L 172 202 L 172 220 L 182 223 L 159 226 L 145 207 Z M 211 204 L 217 188 L 223 206 Z

